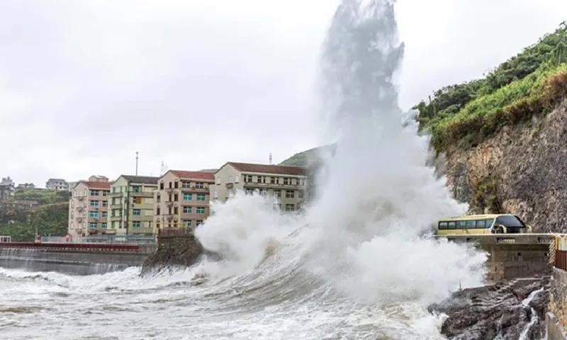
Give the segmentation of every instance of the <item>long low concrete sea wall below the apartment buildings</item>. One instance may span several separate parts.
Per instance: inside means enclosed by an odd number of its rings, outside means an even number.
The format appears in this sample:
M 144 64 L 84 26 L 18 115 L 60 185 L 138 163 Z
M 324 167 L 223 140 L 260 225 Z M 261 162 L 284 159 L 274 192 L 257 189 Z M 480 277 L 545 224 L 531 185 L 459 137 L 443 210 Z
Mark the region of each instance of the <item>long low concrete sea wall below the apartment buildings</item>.
M 91 275 L 142 266 L 154 249 L 136 244 L 4 243 L 0 266 Z

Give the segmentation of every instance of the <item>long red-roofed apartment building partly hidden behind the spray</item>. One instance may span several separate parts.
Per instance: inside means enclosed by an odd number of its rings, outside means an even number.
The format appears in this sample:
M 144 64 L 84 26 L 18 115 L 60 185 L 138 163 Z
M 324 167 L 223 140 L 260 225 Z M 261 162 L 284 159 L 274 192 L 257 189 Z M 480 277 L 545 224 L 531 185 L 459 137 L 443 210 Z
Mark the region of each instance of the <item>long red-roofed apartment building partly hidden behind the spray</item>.
M 300 210 L 307 188 L 307 169 L 299 166 L 228 162 L 215 172 L 213 200 L 227 200 L 237 190 L 279 199 L 284 211 Z

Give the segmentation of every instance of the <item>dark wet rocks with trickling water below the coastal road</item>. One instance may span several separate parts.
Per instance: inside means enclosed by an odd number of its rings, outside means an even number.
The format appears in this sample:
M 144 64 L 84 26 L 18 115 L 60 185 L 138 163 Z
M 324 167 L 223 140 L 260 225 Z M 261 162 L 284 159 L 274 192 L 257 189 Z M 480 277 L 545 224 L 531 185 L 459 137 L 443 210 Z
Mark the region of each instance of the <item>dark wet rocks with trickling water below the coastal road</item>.
M 430 311 L 449 316 L 442 334 L 451 340 L 542 339 L 548 305 L 546 276 L 464 289 Z

